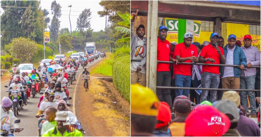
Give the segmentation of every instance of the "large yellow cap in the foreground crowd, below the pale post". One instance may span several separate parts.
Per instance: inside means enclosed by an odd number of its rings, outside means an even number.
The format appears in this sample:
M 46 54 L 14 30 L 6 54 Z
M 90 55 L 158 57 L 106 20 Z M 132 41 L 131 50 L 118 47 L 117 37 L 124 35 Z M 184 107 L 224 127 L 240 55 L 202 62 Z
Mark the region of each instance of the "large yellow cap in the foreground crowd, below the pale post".
M 145 116 L 158 116 L 159 99 L 150 88 L 131 84 L 131 113 Z

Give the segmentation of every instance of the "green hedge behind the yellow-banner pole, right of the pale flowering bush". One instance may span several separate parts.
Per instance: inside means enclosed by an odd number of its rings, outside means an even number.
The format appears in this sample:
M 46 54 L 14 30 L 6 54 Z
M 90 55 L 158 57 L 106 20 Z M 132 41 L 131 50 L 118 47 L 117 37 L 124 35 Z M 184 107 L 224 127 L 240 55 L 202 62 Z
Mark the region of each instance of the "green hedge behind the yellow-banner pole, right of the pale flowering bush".
M 38 54 L 33 56 L 32 63 L 38 63 L 42 59 L 44 59 L 44 46 L 37 44 L 38 46 Z M 49 48 L 45 47 L 45 57 L 52 56 L 54 52 Z

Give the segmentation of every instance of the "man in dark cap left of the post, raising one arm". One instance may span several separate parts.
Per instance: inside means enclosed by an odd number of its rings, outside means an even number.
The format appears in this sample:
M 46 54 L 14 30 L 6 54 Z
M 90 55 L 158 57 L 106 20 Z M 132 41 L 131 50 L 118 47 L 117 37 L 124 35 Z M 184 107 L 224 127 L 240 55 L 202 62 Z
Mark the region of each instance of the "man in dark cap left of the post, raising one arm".
M 146 86 L 146 51 L 147 44 L 145 35 L 144 25 L 139 25 L 134 34 L 134 20 L 138 15 L 139 10 L 136 13 L 132 13 L 131 20 L 131 59 L 140 59 L 141 61 L 131 62 L 131 84 L 139 83 L 140 85 Z

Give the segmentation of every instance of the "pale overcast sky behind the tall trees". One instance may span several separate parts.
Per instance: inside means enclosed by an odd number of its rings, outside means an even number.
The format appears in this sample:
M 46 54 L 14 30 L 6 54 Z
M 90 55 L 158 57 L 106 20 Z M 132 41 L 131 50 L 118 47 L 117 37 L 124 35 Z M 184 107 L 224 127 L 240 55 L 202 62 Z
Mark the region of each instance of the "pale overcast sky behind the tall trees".
M 50 17 L 50 19 L 52 20 L 52 12 L 51 12 L 51 3 L 52 1 L 40 1 L 40 7 L 41 9 L 47 9 L 49 11 L 49 15 L 48 17 Z M 70 8 L 68 7 L 68 5 L 72 5 L 71 8 L 71 14 L 70 14 L 70 20 L 71 20 L 71 24 L 72 24 L 72 31 L 74 31 L 77 27 L 76 22 L 77 22 L 77 18 L 79 17 L 80 13 L 85 9 L 89 9 L 92 12 L 91 15 L 91 28 L 94 31 L 100 31 L 103 30 L 105 28 L 105 17 L 100 17 L 97 13 L 97 11 L 102 11 L 103 7 L 101 7 L 99 5 L 100 1 L 74 1 L 74 0 L 70 0 L 70 1 L 66 1 L 66 0 L 58 0 L 56 1 L 57 3 L 59 3 L 61 5 L 61 10 L 62 10 L 62 16 L 59 18 L 59 20 L 61 21 L 60 24 L 60 29 L 61 28 L 69 28 L 70 30 L 70 22 L 69 22 L 69 13 L 70 13 Z M 1 15 L 3 14 L 4 10 L 1 8 Z M 48 25 L 51 24 L 51 21 Z M 49 30 L 49 29 L 48 29 Z

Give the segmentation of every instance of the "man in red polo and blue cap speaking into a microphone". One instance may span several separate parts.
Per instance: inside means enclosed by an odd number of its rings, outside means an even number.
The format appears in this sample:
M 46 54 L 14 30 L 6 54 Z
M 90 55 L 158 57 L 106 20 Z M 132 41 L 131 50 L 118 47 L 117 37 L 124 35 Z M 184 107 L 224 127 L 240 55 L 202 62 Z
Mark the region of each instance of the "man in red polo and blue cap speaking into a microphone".
M 210 43 L 203 47 L 199 56 L 199 63 L 206 64 L 220 64 L 226 63 L 226 57 L 222 47 L 217 46 L 219 35 L 212 33 L 210 36 Z M 202 66 L 201 85 L 202 88 L 218 88 L 220 83 L 219 66 Z M 202 90 L 200 102 L 207 100 L 209 90 Z M 217 91 L 210 91 L 210 101 L 216 101 Z

